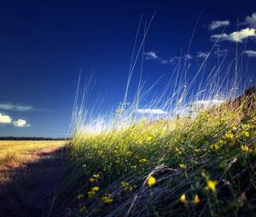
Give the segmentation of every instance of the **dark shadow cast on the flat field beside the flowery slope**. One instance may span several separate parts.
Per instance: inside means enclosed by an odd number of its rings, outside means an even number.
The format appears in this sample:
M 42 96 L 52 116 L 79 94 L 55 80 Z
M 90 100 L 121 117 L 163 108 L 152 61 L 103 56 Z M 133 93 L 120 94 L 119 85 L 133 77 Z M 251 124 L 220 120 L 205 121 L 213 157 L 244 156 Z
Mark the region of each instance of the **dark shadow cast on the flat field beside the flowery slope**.
M 67 147 L 61 147 L 25 167 L 3 171 L 9 181 L 0 183 L 0 216 L 50 216 L 55 191 L 67 168 L 68 152 Z

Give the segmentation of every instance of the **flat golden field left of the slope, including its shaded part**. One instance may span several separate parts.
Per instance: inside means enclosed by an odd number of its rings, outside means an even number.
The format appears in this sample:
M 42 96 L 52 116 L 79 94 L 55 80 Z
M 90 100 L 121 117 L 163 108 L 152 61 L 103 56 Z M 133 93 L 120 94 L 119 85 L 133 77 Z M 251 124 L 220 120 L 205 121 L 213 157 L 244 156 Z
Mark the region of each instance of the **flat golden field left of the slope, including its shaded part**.
M 0 141 L 0 216 L 47 216 L 67 164 L 64 140 Z

